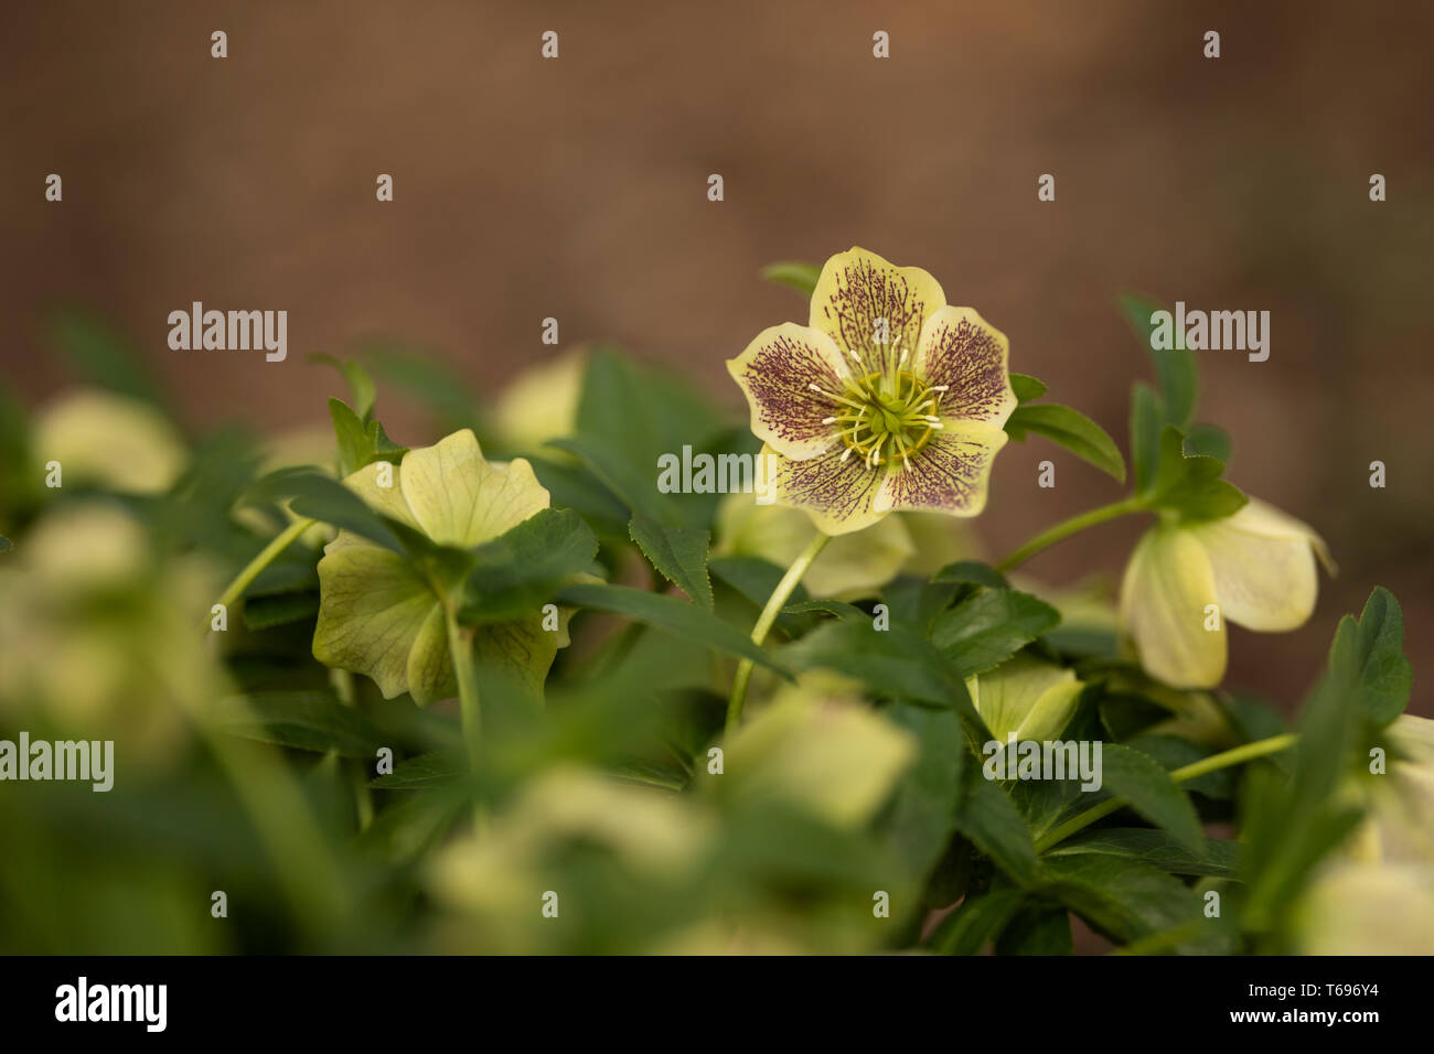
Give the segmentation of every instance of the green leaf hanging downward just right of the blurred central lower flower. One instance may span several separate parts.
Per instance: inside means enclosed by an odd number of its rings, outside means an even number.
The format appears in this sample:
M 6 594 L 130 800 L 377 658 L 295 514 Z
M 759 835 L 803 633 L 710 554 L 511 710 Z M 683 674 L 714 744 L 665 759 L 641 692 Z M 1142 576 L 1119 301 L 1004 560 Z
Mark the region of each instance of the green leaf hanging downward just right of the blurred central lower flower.
M 951 710 L 898 701 L 882 713 L 909 731 L 921 749 L 902 776 L 883 829 L 911 873 L 925 879 L 956 826 L 961 774 L 969 757 L 965 734 Z

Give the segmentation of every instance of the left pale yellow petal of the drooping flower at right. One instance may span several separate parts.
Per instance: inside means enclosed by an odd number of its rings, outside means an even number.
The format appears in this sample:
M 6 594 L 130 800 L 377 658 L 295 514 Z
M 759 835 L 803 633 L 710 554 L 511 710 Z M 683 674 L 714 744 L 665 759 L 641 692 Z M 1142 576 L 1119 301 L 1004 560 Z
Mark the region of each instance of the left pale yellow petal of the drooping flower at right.
M 1226 640 L 1225 618 L 1207 611 L 1215 595 L 1210 559 L 1189 531 L 1157 526 L 1146 532 L 1120 588 L 1120 619 L 1146 673 L 1176 688 L 1220 683 Z

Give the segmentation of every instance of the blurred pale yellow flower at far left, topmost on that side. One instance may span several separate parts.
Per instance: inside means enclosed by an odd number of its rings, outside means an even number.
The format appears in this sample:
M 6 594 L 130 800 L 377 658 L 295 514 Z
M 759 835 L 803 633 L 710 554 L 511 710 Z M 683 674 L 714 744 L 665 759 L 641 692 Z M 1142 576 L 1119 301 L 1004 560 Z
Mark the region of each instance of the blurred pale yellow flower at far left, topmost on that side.
M 149 403 L 79 389 L 36 422 L 32 449 L 40 465 L 59 462 L 66 485 L 120 493 L 162 493 L 184 472 L 184 439 Z

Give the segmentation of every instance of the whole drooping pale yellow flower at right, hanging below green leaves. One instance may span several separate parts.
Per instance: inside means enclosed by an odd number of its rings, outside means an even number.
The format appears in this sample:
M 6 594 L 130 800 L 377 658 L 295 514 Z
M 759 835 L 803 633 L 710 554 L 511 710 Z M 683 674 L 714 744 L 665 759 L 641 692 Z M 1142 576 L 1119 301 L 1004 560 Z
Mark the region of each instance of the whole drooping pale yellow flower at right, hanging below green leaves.
M 1281 632 L 1305 624 L 1319 589 L 1315 558 L 1334 574 L 1314 529 L 1250 499 L 1232 516 L 1160 523 L 1136 545 L 1120 621 L 1152 677 L 1213 688 L 1225 677 L 1225 622 Z

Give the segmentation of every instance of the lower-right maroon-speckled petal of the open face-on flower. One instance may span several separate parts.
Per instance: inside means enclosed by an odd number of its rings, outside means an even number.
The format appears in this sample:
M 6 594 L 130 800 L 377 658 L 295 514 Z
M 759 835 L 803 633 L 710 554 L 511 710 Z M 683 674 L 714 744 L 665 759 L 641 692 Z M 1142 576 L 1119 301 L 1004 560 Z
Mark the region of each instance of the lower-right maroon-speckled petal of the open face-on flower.
M 985 508 L 987 483 L 1007 435 L 994 424 L 948 417 L 931 442 L 905 467 L 892 466 L 876 498 L 878 512 L 911 509 L 977 516 Z

